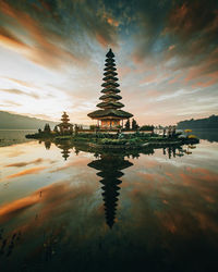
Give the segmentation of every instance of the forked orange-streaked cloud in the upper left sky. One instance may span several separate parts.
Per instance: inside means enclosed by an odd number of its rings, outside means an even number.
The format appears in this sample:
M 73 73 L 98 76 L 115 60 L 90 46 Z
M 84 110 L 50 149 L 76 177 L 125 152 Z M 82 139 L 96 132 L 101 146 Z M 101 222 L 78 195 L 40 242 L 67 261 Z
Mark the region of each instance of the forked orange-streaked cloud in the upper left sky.
M 77 58 L 70 51 L 60 48 L 48 40 L 48 36 L 52 39 L 58 38 L 55 34 L 48 34 L 43 29 L 36 21 L 33 20 L 27 13 L 23 11 L 14 10 L 5 2 L 0 3 L 0 10 L 8 16 L 16 20 L 16 22 L 27 30 L 28 36 L 35 41 L 35 45 L 29 47 L 22 42 L 19 38 L 5 29 L 1 29 L 2 45 L 16 47 L 15 50 L 23 50 L 23 54 L 35 63 L 49 67 L 59 67 L 64 61 L 71 59 L 73 62 L 77 62 Z

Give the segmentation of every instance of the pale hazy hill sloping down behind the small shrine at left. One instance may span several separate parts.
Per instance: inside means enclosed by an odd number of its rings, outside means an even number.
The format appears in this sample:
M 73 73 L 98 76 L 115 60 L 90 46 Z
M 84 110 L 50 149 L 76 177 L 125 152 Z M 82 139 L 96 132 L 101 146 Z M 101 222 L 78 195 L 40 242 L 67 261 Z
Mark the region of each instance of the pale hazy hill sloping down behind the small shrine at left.
M 58 122 L 0 111 L 0 129 L 37 129 L 44 128 L 46 123 L 49 123 L 51 128 L 58 124 Z

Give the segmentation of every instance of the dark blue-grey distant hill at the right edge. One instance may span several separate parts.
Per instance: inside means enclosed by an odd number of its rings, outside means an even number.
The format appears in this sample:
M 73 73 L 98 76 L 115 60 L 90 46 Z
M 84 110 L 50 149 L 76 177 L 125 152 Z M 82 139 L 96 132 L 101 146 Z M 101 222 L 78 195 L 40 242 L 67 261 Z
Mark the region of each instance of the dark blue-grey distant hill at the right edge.
M 218 115 L 211 115 L 205 119 L 191 119 L 178 123 L 178 128 L 218 128 Z

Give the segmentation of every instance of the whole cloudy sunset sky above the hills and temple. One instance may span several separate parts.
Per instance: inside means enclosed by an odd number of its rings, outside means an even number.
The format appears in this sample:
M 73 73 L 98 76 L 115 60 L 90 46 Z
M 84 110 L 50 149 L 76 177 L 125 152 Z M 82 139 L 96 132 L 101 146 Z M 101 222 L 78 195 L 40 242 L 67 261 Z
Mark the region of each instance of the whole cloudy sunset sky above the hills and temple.
M 140 125 L 218 114 L 217 0 L 1 0 L 0 110 L 94 124 L 109 48 Z

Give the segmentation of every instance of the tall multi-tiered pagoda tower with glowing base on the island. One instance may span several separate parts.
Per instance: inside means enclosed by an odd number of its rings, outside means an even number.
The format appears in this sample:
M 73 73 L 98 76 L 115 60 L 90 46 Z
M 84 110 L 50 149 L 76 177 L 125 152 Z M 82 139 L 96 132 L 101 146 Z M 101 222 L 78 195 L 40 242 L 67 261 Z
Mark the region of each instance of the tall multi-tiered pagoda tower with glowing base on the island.
M 117 128 L 123 125 L 123 120 L 132 118 L 133 114 L 121 110 L 124 104 L 120 102 L 122 97 L 118 95 L 120 85 L 118 84 L 118 77 L 116 77 L 118 73 L 116 72 L 114 54 L 111 49 L 106 57 L 105 77 L 102 78 L 105 83 L 101 85 L 104 89 L 101 90 L 102 96 L 99 98 L 101 102 L 97 104 L 100 110 L 88 113 L 88 116 L 97 120 L 101 128 Z

